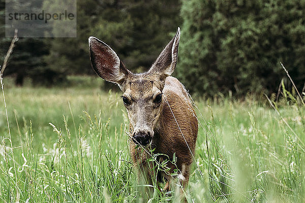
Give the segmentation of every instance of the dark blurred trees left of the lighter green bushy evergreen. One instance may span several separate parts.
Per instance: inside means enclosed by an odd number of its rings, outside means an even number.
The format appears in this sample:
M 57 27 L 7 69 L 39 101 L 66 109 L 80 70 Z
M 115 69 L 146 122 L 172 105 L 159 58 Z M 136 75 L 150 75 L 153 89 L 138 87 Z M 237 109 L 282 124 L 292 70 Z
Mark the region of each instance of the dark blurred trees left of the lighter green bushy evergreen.
M 4 25 L 5 1 L 1 1 L 1 24 Z M 49 9 L 56 7 L 47 0 L 43 4 Z M 181 24 L 179 10 L 180 4 L 173 0 L 79 0 L 77 37 L 20 38 L 5 74 L 30 77 L 33 83 L 46 85 L 63 81 L 66 75 L 94 74 L 88 54 L 89 36 L 98 37 L 111 46 L 130 70 L 145 71 Z M 11 39 L 4 38 L 5 29 L 1 32 L 4 42 L 1 42 L 0 53 L 4 57 Z M 18 72 L 20 74 L 16 75 Z

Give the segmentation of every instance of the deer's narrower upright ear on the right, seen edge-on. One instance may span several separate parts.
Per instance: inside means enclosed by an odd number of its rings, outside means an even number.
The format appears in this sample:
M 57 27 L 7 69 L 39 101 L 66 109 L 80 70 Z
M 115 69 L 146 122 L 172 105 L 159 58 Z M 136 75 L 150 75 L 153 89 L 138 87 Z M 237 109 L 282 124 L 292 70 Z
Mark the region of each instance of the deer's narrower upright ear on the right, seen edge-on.
M 166 45 L 155 63 L 151 66 L 149 72 L 158 73 L 164 77 L 170 76 L 174 72 L 177 63 L 179 40 L 180 27 L 178 27 L 175 37 Z

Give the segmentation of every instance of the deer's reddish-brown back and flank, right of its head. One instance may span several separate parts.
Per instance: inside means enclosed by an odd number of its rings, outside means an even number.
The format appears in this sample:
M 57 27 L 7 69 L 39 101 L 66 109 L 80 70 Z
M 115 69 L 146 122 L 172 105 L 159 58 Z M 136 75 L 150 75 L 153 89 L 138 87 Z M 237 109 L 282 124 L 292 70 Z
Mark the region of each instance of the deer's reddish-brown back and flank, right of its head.
M 156 150 L 169 157 L 175 152 L 180 164 L 191 163 L 190 151 L 195 150 L 198 121 L 188 93 L 176 78 L 167 77 L 163 94 Z

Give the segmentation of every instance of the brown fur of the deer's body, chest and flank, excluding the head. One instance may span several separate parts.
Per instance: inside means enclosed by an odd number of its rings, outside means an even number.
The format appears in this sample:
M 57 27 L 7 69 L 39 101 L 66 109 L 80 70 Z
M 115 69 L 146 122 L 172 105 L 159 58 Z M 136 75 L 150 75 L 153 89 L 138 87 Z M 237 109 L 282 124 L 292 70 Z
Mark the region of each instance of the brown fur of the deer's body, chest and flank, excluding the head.
M 154 153 L 166 154 L 171 160 L 175 153 L 175 156 L 177 157 L 176 166 L 185 178 L 183 186 L 186 187 L 190 176 L 190 165 L 193 160 L 191 152 L 194 154 L 195 151 L 198 122 L 189 96 L 176 78 L 166 78 L 163 93 L 166 96 L 166 99 L 163 99 L 162 101 L 160 118 L 154 129 L 155 135 L 151 143 L 151 148 L 156 148 Z M 176 118 L 183 135 L 181 134 L 174 117 Z M 132 126 L 130 126 L 130 128 L 132 132 Z M 130 151 L 134 165 L 140 171 L 139 173 L 147 173 L 149 168 L 153 167 L 149 166 L 146 161 L 150 155 L 146 151 L 143 151 L 142 148 L 136 148 L 134 142 L 130 142 Z M 163 173 L 161 175 L 161 177 L 164 177 L 168 181 L 171 181 L 170 174 L 176 168 L 174 165 L 171 165 L 170 167 L 171 170 L 168 173 Z M 156 175 L 154 173 L 156 172 L 153 172 L 151 176 L 146 175 L 149 184 L 152 182 L 149 178 Z

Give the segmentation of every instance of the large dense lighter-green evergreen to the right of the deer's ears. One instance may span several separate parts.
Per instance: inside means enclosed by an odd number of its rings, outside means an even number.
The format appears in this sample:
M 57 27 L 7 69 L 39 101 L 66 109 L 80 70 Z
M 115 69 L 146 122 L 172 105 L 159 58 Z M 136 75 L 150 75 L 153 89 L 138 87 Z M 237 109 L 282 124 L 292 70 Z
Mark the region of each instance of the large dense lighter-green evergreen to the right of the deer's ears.
M 305 1 L 182 1 L 178 77 L 214 95 L 277 91 L 280 61 L 305 80 Z

